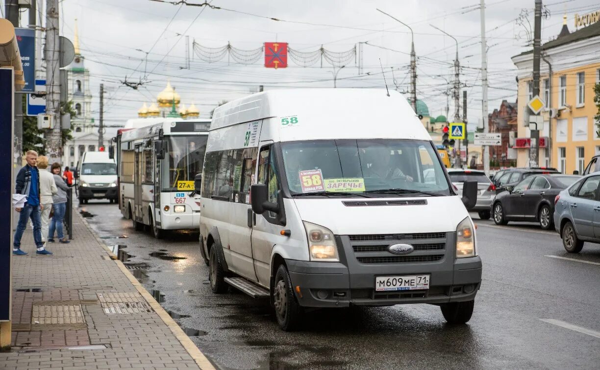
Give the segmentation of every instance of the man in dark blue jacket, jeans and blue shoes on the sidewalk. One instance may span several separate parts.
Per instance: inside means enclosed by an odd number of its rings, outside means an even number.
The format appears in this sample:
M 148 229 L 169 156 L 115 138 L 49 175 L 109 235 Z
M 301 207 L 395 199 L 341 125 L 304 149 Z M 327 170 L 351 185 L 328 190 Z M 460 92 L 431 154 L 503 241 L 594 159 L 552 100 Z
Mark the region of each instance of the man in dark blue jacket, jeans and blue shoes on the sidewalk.
M 13 238 L 13 254 L 24 256 L 28 253 L 21 250 L 21 238 L 27 226 L 27 220 L 31 219 L 34 224 L 34 241 L 37 251 L 35 254 L 53 254 L 46 250 L 44 242 L 41 241 L 41 210 L 44 208 L 40 204 L 40 172 L 37 166 L 37 151 L 28 150 L 25 153 L 27 164 L 19 170 L 15 190 L 18 194 L 26 195 L 27 201 L 23 208 L 15 208 L 19 212 L 19 223 Z

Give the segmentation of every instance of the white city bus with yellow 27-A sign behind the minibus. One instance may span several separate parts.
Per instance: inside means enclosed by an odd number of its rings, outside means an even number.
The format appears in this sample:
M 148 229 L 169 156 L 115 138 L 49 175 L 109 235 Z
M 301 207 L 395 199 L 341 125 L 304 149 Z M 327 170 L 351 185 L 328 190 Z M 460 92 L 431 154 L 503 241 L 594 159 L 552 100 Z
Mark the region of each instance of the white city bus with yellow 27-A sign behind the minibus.
M 163 119 L 121 129 L 113 141 L 118 167 L 119 208 L 136 231 L 197 230 L 200 195 L 194 178 L 202 175 L 211 121 Z

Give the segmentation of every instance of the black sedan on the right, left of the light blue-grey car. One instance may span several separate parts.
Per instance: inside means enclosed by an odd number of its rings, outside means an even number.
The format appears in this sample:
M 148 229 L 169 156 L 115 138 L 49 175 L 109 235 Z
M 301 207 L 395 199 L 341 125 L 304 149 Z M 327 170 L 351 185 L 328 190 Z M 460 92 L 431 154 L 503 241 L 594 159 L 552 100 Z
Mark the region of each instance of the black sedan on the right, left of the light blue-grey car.
M 577 175 L 536 174 L 521 180 L 515 186 L 494 198 L 491 212 L 496 225 L 509 221 L 539 222 L 544 230 L 554 225 L 554 199 L 566 187 L 577 181 Z

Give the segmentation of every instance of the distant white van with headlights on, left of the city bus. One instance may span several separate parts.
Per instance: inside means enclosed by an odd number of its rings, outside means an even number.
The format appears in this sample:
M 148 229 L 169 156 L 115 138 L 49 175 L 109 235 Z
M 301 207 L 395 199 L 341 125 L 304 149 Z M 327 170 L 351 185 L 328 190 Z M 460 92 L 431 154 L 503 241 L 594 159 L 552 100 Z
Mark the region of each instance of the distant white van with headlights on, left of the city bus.
M 76 172 L 79 204 L 89 199 L 109 199 L 117 202 L 116 164 L 106 151 L 86 151 Z

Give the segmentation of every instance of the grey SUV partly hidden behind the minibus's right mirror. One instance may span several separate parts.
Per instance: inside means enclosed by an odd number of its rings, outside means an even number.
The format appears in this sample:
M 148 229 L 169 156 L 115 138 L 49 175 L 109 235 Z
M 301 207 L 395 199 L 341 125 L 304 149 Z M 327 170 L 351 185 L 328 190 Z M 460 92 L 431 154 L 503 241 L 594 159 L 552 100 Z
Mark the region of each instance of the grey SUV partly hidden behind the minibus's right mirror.
M 457 187 L 458 195 L 463 195 L 463 183 L 464 181 L 477 181 L 477 203 L 475 208 L 469 211 L 476 211 L 479 214 L 479 218 L 487 220 L 490 218 L 490 206 L 496 195 L 496 186 L 491 180 L 485 175 L 484 171 L 477 171 L 471 169 L 448 169 L 448 175 L 450 181 Z

